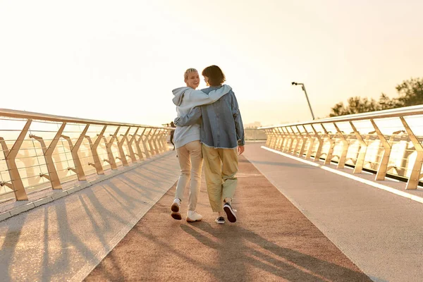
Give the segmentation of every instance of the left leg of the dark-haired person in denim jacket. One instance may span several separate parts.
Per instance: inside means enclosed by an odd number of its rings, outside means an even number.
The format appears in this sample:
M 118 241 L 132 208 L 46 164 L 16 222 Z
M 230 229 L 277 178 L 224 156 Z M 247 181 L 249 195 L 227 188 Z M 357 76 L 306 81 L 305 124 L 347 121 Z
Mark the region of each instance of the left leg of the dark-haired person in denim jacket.
M 223 214 L 221 159 L 218 149 L 202 145 L 202 152 L 210 206 L 220 217 Z

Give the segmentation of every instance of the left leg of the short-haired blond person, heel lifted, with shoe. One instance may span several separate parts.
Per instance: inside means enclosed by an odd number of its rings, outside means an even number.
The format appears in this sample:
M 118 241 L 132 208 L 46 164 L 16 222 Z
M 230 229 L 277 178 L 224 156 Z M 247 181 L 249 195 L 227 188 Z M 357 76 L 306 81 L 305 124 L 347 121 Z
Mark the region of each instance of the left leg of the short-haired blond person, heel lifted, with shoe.
M 183 200 L 183 192 L 188 182 L 190 181 L 191 175 L 191 160 L 190 152 L 185 146 L 179 147 L 176 149 L 176 154 L 178 154 L 178 161 L 180 167 L 180 176 L 178 179 L 178 184 L 176 185 L 175 200 L 173 201 L 171 210 L 173 219 L 182 219 L 179 212 L 180 202 Z

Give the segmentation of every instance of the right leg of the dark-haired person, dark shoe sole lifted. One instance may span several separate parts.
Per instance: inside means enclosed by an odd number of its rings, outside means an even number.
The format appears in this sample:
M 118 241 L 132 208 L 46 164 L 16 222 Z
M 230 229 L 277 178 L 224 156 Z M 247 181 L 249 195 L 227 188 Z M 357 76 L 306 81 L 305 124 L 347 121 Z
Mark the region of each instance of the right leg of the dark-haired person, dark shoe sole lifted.
M 220 149 L 219 155 L 222 159 L 222 198 L 225 202 L 223 209 L 228 216 L 228 221 L 235 222 L 236 215 L 231 202 L 238 184 L 238 178 L 235 176 L 238 172 L 238 152 L 237 149 Z

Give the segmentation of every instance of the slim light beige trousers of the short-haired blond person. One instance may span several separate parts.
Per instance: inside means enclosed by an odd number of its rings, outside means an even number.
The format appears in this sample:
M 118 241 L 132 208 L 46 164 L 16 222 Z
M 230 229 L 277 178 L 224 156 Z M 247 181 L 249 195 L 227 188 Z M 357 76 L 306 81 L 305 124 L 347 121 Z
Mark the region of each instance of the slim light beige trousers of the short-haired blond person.
M 200 194 L 201 171 L 202 171 L 202 149 L 199 140 L 189 142 L 183 147 L 176 149 L 179 160 L 180 176 L 176 185 L 175 198 L 182 202 L 185 187 L 191 180 L 190 197 L 188 199 L 188 210 L 195 211 L 198 195 Z

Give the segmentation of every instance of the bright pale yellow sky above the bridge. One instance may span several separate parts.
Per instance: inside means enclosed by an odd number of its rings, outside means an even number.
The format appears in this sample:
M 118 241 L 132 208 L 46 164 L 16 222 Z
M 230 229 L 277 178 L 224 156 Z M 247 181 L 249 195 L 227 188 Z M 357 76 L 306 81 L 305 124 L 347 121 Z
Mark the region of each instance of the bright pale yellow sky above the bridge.
M 311 120 L 293 81 L 324 118 L 423 77 L 422 10 L 420 0 L 0 0 L 0 108 L 161 125 L 176 117 L 185 69 L 217 65 L 245 125 Z

